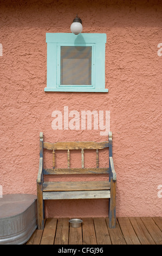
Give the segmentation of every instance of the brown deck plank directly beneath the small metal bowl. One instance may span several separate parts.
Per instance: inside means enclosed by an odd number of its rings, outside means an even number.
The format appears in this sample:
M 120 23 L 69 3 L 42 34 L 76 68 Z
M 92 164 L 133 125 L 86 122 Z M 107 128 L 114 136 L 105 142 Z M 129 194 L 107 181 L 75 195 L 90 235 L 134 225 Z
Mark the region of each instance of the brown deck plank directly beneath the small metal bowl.
M 69 225 L 69 245 L 82 245 L 82 226 L 72 228 Z

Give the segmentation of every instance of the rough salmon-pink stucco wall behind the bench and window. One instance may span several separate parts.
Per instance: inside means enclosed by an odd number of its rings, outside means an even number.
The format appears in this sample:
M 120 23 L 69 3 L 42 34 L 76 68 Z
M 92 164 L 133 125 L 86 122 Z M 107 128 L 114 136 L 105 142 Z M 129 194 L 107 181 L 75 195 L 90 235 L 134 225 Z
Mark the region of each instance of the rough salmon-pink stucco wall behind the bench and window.
M 82 19 L 83 33 L 107 34 L 108 93 L 44 92 L 46 33 L 70 33 L 76 13 Z M 100 136 L 99 130 L 54 131 L 53 111 L 63 113 L 64 106 L 79 113 L 110 111 L 117 174 L 116 215 L 162 216 L 162 198 L 158 197 L 158 186 L 162 184 L 162 56 L 157 54 L 157 45 L 162 42 L 161 1 L 1 1 L 0 14 L 3 193 L 36 194 L 40 131 L 44 141 L 51 142 L 108 139 Z M 87 154 L 86 164 L 93 166 L 95 156 Z M 81 164 L 74 153 L 72 159 L 78 166 Z M 105 167 L 106 151 L 101 160 Z M 58 153 L 57 164 L 66 165 L 66 155 L 63 158 Z M 46 203 L 47 217 L 107 214 L 105 199 Z

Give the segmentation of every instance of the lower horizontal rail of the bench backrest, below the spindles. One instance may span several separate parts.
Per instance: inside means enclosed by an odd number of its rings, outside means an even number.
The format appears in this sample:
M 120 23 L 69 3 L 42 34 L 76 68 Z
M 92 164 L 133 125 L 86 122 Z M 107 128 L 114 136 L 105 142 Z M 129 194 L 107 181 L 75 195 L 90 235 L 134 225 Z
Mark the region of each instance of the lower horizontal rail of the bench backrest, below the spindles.
M 56 168 L 43 169 L 43 174 L 108 174 L 108 168 Z

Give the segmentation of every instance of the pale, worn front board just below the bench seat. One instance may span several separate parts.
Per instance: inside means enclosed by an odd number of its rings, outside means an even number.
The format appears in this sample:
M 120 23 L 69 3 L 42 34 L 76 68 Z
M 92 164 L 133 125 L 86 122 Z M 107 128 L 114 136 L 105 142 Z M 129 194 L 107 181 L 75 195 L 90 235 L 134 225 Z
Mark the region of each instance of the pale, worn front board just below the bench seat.
M 43 192 L 43 199 L 96 199 L 110 198 L 109 190 Z

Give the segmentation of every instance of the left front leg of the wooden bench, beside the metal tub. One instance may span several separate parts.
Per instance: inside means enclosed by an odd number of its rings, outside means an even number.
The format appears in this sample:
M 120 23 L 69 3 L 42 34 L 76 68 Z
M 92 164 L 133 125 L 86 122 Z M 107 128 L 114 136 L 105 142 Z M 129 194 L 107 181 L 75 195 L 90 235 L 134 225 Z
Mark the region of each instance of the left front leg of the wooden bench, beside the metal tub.
M 41 183 L 37 183 L 37 223 L 38 229 L 44 229 L 43 191 Z

